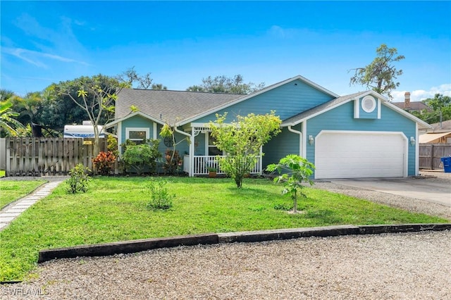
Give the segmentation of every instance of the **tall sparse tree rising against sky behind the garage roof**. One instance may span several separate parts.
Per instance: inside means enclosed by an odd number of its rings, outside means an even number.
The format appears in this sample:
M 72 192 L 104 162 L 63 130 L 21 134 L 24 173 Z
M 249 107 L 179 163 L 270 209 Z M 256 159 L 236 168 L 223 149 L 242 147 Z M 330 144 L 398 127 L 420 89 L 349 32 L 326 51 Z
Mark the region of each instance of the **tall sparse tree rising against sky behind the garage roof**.
M 400 82 L 395 80 L 397 76 L 402 75 L 402 70 L 397 70 L 393 63 L 401 61 L 404 56 L 397 56 L 397 49 L 388 48 L 385 44 L 376 49 L 376 54 L 376 58 L 369 65 L 351 69 L 354 70 L 354 76 L 350 79 L 350 85 L 365 85 L 366 88 L 371 88 L 379 94 L 386 94 L 392 99 L 390 92 L 399 87 Z

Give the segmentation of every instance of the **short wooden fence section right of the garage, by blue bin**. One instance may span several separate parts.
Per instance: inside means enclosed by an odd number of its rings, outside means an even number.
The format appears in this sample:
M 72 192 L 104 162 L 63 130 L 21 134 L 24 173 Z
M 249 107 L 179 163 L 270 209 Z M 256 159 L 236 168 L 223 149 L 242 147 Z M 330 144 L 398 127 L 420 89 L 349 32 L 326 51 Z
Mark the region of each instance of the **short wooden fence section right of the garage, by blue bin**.
M 440 158 L 451 156 L 451 144 L 420 144 L 420 169 L 443 169 Z

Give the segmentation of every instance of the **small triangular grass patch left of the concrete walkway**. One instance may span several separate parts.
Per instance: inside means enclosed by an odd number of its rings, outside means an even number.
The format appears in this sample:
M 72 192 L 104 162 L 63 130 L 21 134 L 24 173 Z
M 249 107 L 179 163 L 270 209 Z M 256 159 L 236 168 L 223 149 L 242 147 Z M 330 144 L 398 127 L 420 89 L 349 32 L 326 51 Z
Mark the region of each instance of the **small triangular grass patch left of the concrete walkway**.
M 33 192 L 45 180 L 1 180 L 0 208 Z

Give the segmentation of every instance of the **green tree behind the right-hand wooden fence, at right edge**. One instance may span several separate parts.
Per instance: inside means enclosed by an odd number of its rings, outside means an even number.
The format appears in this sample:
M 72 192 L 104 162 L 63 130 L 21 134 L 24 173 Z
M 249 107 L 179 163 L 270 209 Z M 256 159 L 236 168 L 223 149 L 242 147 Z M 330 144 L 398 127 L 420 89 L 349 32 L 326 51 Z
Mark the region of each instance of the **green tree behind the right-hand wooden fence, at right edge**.
M 435 94 L 433 98 L 422 100 L 432 111 L 412 111 L 416 117 L 427 123 L 438 123 L 442 120 L 451 120 L 451 97 L 443 94 Z

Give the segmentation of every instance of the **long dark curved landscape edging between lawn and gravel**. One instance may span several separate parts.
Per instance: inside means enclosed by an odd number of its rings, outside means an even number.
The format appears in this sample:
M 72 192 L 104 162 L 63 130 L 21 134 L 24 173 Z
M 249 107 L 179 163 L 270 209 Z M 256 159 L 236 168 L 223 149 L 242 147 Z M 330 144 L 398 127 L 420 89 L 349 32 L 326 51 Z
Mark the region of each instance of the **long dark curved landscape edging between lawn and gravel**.
M 184 235 L 154 239 L 135 239 L 125 242 L 72 246 L 67 248 L 39 251 L 38 263 L 58 258 L 79 256 L 111 256 L 130 254 L 159 248 L 194 246 L 198 244 L 222 244 L 233 242 L 264 242 L 275 239 L 295 239 L 298 237 L 334 237 L 339 235 L 373 235 L 395 232 L 421 232 L 426 230 L 451 230 L 451 223 L 399 224 L 399 225 L 334 225 L 325 227 L 290 228 L 281 230 L 261 230 L 252 232 L 207 233 L 204 235 Z

